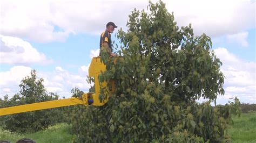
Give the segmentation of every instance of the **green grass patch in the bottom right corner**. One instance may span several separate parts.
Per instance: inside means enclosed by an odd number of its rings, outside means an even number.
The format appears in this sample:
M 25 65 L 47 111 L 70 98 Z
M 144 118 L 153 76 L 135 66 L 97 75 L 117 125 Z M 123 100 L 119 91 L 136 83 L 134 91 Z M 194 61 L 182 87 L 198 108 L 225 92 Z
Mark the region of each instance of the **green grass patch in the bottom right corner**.
M 256 142 L 256 112 L 243 113 L 233 118 L 229 133 L 233 142 Z

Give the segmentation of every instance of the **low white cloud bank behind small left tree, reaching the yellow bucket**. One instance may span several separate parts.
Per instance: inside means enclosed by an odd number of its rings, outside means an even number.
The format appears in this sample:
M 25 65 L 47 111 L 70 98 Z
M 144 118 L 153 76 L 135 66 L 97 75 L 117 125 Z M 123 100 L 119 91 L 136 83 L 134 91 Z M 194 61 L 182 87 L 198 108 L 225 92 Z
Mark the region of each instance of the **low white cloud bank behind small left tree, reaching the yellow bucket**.
M 60 97 L 71 97 L 70 91 L 77 87 L 84 92 L 88 91 L 90 84 L 86 82 L 86 75 L 89 66 L 82 66 L 80 69 L 84 71 L 72 74 L 62 67 L 56 67 L 53 71 L 44 73 L 37 71 L 38 78 L 44 79 L 44 86 L 48 92 L 56 92 Z M 30 75 L 31 68 L 24 66 L 12 67 L 9 71 L 0 72 L 0 98 L 5 94 L 9 97 L 19 92 L 19 84 L 22 79 Z

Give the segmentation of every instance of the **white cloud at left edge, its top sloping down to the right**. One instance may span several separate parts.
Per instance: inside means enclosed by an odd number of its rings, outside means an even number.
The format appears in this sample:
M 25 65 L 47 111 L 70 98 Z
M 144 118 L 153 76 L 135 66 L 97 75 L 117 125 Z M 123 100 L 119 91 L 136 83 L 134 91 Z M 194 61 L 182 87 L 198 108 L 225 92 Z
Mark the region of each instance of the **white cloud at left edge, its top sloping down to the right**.
M 20 38 L 0 35 L 0 63 L 50 63 L 29 42 Z

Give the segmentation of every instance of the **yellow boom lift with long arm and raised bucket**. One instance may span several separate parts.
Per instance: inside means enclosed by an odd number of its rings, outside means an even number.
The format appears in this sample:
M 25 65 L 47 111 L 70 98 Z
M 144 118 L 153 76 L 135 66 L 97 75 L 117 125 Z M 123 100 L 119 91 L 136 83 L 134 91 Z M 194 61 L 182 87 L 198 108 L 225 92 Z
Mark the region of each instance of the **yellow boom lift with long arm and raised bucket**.
M 82 99 L 78 97 L 72 97 L 68 99 L 59 99 L 55 101 L 25 104 L 25 105 L 19 105 L 19 106 L 12 106 L 9 108 L 0 108 L 0 116 L 28 112 L 28 111 L 50 109 L 50 108 L 59 108 L 63 106 L 78 105 L 78 104 L 83 104 L 85 106 L 89 104 L 94 106 L 102 106 L 108 101 L 108 97 L 102 102 L 100 102 L 99 100 L 100 86 L 104 88 L 106 87 L 107 83 L 103 82 L 100 85 L 98 76 L 100 72 L 103 72 L 105 70 L 106 70 L 106 66 L 100 60 L 100 56 L 92 59 L 91 65 L 89 67 L 89 77 L 95 78 L 95 93 L 91 93 L 91 92 L 85 93 L 82 95 Z M 112 83 L 112 90 L 109 91 L 109 94 L 111 94 L 111 92 L 114 91 L 114 88 L 115 88 L 114 84 Z

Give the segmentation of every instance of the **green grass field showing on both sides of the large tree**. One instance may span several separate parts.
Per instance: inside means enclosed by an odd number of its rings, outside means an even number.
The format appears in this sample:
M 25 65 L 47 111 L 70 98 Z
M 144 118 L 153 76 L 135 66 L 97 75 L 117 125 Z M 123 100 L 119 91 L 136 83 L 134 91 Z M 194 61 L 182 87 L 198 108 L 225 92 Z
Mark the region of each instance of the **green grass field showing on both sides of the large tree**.
M 243 113 L 240 118 L 233 118 L 234 125 L 228 130 L 232 142 L 256 142 L 256 112 Z M 31 138 L 36 142 L 72 142 L 68 124 L 51 126 L 44 131 L 30 134 L 17 134 L 0 129 L 0 140 L 16 142 L 21 138 Z

